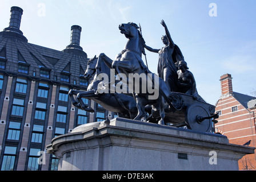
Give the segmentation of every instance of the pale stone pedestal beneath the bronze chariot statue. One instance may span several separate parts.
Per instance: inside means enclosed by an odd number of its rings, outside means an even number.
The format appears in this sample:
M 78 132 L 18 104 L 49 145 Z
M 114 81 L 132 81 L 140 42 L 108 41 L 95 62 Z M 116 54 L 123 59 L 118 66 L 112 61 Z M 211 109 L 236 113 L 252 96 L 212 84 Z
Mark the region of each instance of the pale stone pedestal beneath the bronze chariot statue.
M 223 135 L 124 118 L 81 125 L 47 146 L 62 171 L 238 170 L 254 149 Z

